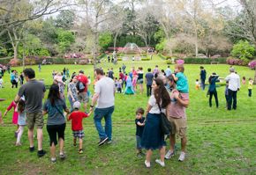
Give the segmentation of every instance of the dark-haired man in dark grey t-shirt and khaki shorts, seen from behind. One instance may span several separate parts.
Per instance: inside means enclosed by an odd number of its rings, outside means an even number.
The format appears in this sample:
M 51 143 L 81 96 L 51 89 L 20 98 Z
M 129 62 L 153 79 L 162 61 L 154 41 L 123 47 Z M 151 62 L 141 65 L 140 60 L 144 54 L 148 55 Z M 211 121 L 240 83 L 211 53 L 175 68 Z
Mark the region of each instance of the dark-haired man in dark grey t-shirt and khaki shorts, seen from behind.
M 38 157 L 43 157 L 46 152 L 42 149 L 42 98 L 44 98 L 45 86 L 41 82 L 35 80 L 34 69 L 28 68 L 23 70 L 26 84 L 23 84 L 19 88 L 19 92 L 15 98 L 15 103 L 19 102 L 22 96 L 25 96 L 26 105 L 26 126 L 28 128 L 28 140 L 29 150 L 34 151 L 34 125 L 37 128 L 37 140 L 38 140 Z

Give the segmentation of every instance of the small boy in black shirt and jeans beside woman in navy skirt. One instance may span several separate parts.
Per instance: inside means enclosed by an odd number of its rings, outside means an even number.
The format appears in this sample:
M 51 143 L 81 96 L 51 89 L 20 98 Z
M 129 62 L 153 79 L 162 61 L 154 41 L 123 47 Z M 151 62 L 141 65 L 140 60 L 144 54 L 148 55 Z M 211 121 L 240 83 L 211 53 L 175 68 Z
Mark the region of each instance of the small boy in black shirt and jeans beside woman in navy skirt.
M 143 133 L 143 129 L 145 126 L 145 117 L 143 117 L 144 109 L 138 108 L 136 111 L 136 142 L 137 142 L 137 157 L 143 156 L 142 147 L 141 147 L 141 137 Z

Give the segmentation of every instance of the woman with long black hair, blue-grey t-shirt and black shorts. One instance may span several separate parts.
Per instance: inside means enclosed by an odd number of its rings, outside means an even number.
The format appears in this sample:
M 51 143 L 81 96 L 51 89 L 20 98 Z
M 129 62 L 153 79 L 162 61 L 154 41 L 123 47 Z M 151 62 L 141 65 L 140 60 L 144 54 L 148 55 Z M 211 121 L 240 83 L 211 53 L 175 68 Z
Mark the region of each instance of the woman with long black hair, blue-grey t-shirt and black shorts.
M 59 157 L 64 159 L 64 130 L 65 118 L 63 110 L 69 113 L 69 110 L 63 99 L 60 98 L 59 87 L 52 84 L 49 88 L 48 99 L 43 106 L 43 114 L 48 113 L 47 131 L 49 134 L 49 146 L 51 162 L 56 163 L 56 134 L 59 142 Z

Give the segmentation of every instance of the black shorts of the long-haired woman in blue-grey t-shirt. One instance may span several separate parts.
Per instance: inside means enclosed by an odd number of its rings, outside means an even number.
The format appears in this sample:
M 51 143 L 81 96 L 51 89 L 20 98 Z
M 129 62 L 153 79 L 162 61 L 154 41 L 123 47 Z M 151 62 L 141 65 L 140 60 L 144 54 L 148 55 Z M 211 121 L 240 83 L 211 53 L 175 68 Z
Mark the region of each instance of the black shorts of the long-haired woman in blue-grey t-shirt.
M 46 128 L 49 134 L 49 146 L 51 146 L 52 143 L 54 143 L 54 145 L 57 144 L 56 134 L 57 134 L 58 140 L 60 138 L 64 140 L 64 131 L 66 128 L 65 123 L 61 125 L 48 125 Z

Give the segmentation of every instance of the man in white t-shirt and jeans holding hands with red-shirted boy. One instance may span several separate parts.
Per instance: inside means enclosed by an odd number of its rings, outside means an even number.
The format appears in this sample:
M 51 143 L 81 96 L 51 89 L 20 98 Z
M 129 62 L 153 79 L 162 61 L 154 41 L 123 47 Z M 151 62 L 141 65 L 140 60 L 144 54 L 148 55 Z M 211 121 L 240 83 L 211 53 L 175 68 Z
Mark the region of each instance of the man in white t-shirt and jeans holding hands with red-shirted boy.
M 112 120 L 111 115 L 114 112 L 115 104 L 115 82 L 109 77 L 105 77 L 102 69 L 95 69 L 94 74 L 98 80 L 95 84 L 94 97 L 90 111 L 94 109 L 94 125 L 100 136 L 101 146 L 105 142 L 111 143 L 112 140 Z M 105 130 L 102 128 L 102 118 L 105 120 Z

